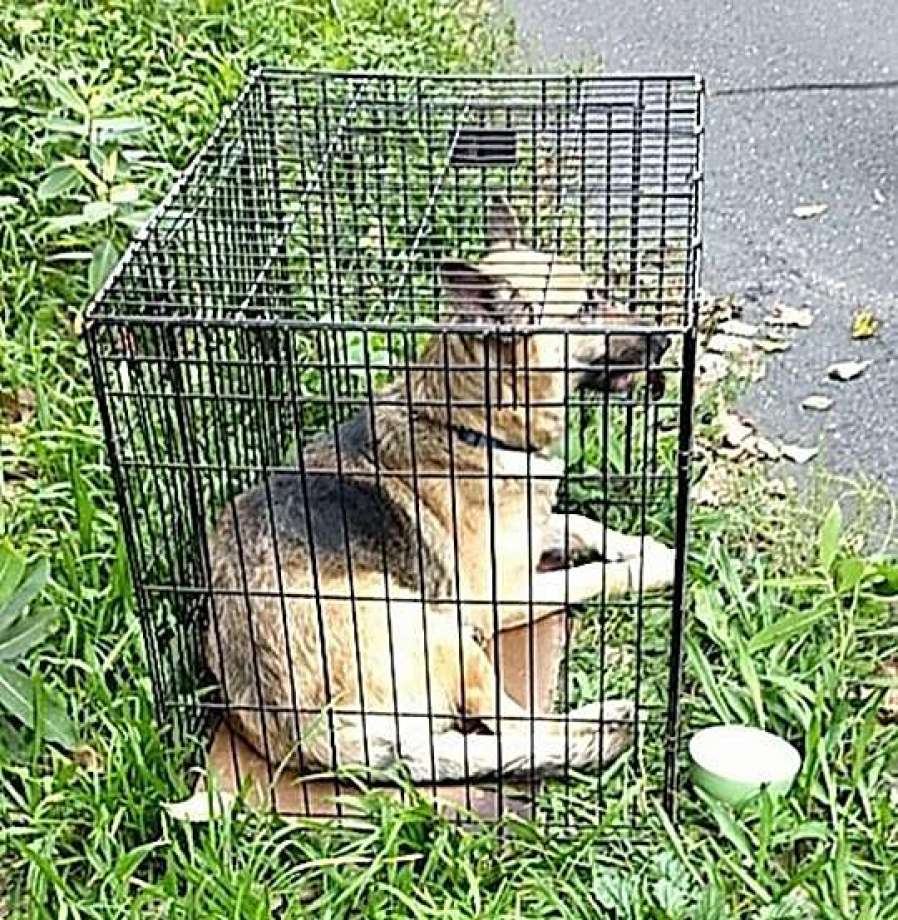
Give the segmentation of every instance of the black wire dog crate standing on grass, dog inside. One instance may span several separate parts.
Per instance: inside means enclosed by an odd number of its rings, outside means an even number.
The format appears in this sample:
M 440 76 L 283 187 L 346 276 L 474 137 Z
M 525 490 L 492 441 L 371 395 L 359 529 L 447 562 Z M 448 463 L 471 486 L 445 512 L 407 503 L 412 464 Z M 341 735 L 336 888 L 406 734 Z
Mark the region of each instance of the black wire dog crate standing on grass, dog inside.
M 254 72 L 85 327 L 173 744 L 313 817 L 673 809 L 701 104 Z

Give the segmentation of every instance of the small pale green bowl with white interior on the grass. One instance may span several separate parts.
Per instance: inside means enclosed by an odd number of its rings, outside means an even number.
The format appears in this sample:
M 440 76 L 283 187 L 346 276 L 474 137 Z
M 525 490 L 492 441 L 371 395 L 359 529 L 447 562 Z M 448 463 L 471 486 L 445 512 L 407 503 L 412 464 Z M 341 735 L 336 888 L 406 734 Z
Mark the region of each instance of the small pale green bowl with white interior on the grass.
M 762 790 L 785 795 L 801 755 L 778 735 L 748 725 L 715 725 L 689 740 L 692 781 L 712 798 L 741 805 Z

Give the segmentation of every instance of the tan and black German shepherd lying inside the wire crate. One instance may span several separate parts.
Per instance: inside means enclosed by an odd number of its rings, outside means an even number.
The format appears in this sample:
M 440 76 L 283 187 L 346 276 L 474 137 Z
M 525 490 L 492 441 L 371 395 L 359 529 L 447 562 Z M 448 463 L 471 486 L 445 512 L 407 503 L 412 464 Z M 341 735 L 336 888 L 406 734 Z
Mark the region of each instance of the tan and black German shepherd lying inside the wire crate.
M 440 782 L 557 775 L 630 744 L 625 700 L 531 722 L 485 647 L 566 604 L 672 583 L 666 546 L 553 512 L 564 470 L 547 453 L 569 390 L 617 388 L 615 367 L 657 361 L 667 339 L 578 333 L 609 312 L 580 267 L 528 248 L 504 198 L 487 227 L 477 265 L 440 267 L 463 326 L 310 442 L 297 472 L 234 499 L 211 536 L 207 660 L 233 726 L 269 762 L 404 764 Z M 509 346 L 489 333 L 513 323 L 534 334 Z M 544 570 L 545 556 L 561 567 Z

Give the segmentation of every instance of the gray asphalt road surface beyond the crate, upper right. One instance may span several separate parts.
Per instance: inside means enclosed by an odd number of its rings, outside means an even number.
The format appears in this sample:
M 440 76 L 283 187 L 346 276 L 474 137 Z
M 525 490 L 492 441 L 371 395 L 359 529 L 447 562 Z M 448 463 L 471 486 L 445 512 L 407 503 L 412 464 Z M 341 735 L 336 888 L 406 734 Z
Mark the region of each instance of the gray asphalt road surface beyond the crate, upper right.
M 698 71 L 707 80 L 705 286 L 808 305 L 810 330 L 773 357 L 747 411 L 819 444 L 832 469 L 898 491 L 898 5 L 882 0 L 510 0 L 536 66 Z M 782 87 L 801 84 L 801 88 Z M 813 88 L 807 86 L 813 84 Z M 798 220 L 793 208 L 825 203 Z M 869 307 L 879 336 L 853 341 Z M 872 358 L 850 383 L 835 361 Z M 801 408 L 833 396 L 828 413 Z

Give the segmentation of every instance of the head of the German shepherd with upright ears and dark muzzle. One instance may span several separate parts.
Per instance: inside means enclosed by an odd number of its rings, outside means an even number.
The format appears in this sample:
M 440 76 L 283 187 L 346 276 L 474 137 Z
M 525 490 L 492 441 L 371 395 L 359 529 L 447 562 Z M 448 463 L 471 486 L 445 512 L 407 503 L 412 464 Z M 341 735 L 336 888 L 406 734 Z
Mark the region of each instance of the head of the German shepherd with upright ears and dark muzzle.
M 657 365 L 669 345 L 661 330 L 615 332 L 615 326 L 645 324 L 635 314 L 614 312 L 575 262 L 528 247 L 502 198 L 491 202 L 487 233 L 489 249 L 476 265 L 449 261 L 441 266 L 443 289 L 457 319 L 487 329 L 532 332 L 525 336 L 527 373 L 551 377 L 556 393 L 559 387 L 564 392 L 624 390 L 640 371 L 658 393 L 663 376 Z M 504 360 L 508 367 L 501 344 L 495 348 L 493 363 Z M 521 361 L 514 363 L 520 369 Z

